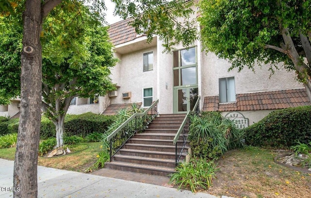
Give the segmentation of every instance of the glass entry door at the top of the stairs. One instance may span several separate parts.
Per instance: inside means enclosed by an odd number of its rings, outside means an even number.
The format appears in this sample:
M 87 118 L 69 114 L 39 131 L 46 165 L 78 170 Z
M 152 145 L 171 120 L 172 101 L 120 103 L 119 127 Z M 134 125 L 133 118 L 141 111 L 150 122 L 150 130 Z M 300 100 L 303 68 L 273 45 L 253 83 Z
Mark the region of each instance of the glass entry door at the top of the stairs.
M 174 112 L 186 113 L 193 109 L 198 99 L 198 87 L 184 87 L 174 89 Z

